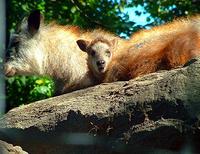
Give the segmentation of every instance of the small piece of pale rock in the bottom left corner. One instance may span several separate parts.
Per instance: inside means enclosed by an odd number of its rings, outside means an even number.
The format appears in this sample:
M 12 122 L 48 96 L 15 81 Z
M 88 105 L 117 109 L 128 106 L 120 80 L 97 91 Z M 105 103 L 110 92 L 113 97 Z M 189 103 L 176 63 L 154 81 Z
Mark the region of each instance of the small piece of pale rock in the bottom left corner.
M 13 146 L 0 140 L 0 154 L 28 154 L 19 146 Z

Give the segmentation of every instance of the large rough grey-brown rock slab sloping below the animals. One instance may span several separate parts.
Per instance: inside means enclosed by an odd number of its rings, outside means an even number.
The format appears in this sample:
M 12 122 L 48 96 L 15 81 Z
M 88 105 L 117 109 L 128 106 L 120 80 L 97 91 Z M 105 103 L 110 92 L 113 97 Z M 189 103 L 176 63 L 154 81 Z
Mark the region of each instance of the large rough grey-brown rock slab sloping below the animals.
M 31 154 L 199 153 L 200 59 L 9 111 L 0 139 Z

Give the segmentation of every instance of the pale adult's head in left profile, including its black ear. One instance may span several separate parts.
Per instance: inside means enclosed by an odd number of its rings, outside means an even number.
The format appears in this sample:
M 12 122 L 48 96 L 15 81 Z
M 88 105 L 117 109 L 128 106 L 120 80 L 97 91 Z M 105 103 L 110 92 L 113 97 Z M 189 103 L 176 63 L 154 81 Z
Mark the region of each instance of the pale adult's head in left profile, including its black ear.
M 10 35 L 5 63 L 6 76 L 34 74 L 34 69 L 39 67 L 38 62 L 43 58 L 38 37 L 41 22 L 40 12 L 34 11 L 28 18 L 24 18 L 18 30 Z

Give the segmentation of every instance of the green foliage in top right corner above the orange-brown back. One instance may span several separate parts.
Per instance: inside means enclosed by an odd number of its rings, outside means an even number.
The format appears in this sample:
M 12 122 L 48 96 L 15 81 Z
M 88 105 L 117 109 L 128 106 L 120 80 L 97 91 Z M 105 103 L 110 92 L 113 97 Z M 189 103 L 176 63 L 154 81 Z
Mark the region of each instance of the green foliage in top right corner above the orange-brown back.
M 195 15 L 200 12 L 198 0 L 132 0 L 128 7 L 141 5 L 145 11 L 140 14 L 150 13 L 153 22 L 148 26 L 160 25 L 177 17 Z M 149 19 L 147 18 L 147 21 Z

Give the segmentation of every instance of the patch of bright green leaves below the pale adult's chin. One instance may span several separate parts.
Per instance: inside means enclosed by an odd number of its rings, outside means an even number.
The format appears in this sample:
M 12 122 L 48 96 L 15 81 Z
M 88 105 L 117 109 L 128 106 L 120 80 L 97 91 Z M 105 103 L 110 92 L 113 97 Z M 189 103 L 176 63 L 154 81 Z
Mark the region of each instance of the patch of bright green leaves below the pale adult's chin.
M 48 77 L 16 76 L 6 80 L 7 109 L 51 97 L 54 84 Z

